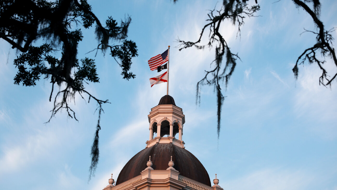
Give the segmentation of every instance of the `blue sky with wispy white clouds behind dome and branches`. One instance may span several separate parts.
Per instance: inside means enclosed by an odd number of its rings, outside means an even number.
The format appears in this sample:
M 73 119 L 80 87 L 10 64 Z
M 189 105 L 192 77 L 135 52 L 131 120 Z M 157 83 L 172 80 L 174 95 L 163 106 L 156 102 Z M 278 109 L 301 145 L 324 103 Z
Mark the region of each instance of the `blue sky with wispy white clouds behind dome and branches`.
M 275 0 L 276 1 L 276 0 Z M 103 105 L 99 131 L 100 157 L 95 176 L 88 182 L 90 149 L 98 114 L 97 105 L 75 97 L 73 109 L 79 121 L 65 111 L 51 122 L 51 85 L 41 79 L 34 87 L 14 85 L 18 55 L 0 40 L 0 187 L 27 190 L 88 189 L 108 185 L 111 173 L 117 180 L 126 162 L 146 147 L 149 139 L 147 115 L 166 94 L 166 83 L 150 87 L 147 61 L 170 45 L 170 89 L 186 122 L 182 140 L 206 168 L 211 182 L 217 174 L 224 189 L 301 190 L 337 189 L 337 83 L 319 85 L 317 65 L 292 72 L 298 56 L 315 44 L 312 19 L 289 0 L 259 0 L 259 17 L 247 18 L 236 37 L 237 26 L 222 24 L 220 31 L 231 51 L 238 53 L 235 72 L 222 89 L 226 96 L 217 138 L 214 88 L 204 86 L 201 104 L 195 105 L 196 83 L 210 70 L 214 48 L 179 51 L 176 42 L 196 41 L 207 13 L 217 1 L 93 1 L 93 12 L 103 22 L 130 15 L 128 39 L 136 42 L 129 81 L 106 54 L 88 53 L 97 45 L 93 28 L 82 30 L 78 58 L 95 59 L 98 84 L 87 91 Z M 252 3 L 252 2 L 251 2 Z M 326 29 L 337 27 L 337 1 L 321 1 L 320 19 Z M 337 32 L 333 32 L 337 37 Z M 203 39 L 207 43 L 207 37 Z M 337 69 L 331 59 L 330 74 Z M 55 93 L 54 93 L 55 95 Z M 146 163 L 144 163 L 145 165 Z

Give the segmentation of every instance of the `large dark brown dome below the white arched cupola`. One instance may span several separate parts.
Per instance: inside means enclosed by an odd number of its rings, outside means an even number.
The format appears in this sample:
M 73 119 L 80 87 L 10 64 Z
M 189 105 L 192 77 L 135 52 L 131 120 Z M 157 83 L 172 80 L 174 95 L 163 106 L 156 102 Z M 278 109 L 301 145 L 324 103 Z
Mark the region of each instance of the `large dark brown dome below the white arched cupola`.
M 155 170 L 166 170 L 172 156 L 173 167 L 180 175 L 211 186 L 209 175 L 203 164 L 192 153 L 172 143 L 157 143 L 134 155 L 119 173 L 116 185 L 141 175 L 147 167 L 149 156 L 153 162 L 152 168 Z

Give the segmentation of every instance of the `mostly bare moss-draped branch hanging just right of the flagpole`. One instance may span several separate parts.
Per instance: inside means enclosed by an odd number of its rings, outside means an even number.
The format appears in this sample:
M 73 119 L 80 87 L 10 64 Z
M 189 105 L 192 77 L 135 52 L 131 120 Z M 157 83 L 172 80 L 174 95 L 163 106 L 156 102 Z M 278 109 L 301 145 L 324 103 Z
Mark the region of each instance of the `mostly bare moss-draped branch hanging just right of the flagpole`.
M 236 60 L 240 59 L 238 54 L 231 52 L 226 40 L 222 37 L 219 32 L 220 26 L 224 20 L 230 20 L 235 25 L 238 25 L 237 36 L 241 33 L 241 27 L 244 24 L 244 18 L 246 16 L 252 17 L 255 16 L 254 13 L 260 9 L 259 5 L 253 5 L 248 7 L 246 0 L 223 0 L 223 6 L 219 10 L 210 10 L 208 13 L 208 23 L 203 27 L 198 40 L 195 42 L 180 40 L 177 41 L 180 43 L 177 47 L 180 47 L 179 50 L 196 47 L 197 49 L 203 49 L 206 45 L 209 48 L 213 47 L 215 43 L 215 59 L 210 63 L 210 66 L 213 67 L 210 71 L 205 71 L 205 76 L 197 82 L 196 85 L 196 101 L 195 103 L 200 103 L 200 91 L 203 85 L 213 85 L 214 90 L 216 91 L 217 96 L 217 134 L 219 138 L 220 134 L 220 121 L 221 121 L 221 106 L 224 100 L 224 96 L 221 92 L 221 84 L 225 82 L 225 88 L 227 88 L 228 81 L 231 78 L 235 66 Z M 256 1 L 257 3 L 257 1 Z M 209 27 L 209 40 L 206 45 L 201 45 L 201 39 L 204 35 L 205 29 Z M 241 36 L 241 35 L 240 35 Z M 223 57 L 225 59 L 225 66 L 221 65 Z M 213 66 L 214 64 L 214 66 Z

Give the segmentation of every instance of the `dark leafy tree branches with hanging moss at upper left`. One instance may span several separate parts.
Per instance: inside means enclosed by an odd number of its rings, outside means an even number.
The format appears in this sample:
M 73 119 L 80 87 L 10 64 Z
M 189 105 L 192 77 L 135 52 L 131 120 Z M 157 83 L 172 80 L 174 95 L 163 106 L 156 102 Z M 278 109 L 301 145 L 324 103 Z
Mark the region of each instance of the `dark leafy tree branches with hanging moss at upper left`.
M 96 50 L 96 54 L 101 50 L 105 55 L 105 50 L 109 48 L 110 55 L 122 69 L 123 78 L 129 80 L 135 77 L 129 72 L 131 59 L 138 55 L 135 42 L 127 39 L 130 23 L 129 16 L 120 25 L 108 17 L 105 26 L 102 26 L 86 0 L 0 0 L 0 38 L 21 52 L 14 60 L 18 68 L 14 84 L 34 86 L 43 77 L 52 85 L 50 101 L 54 85 L 60 87 L 54 96 L 49 121 L 63 109 L 69 117 L 76 119 L 75 112 L 69 107 L 69 101 L 75 100 L 76 93 L 83 99 L 86 94 L 88 102 L 90 99 L 97 102 L 99 119 L 103 111 L 102 104 L 109 103 L 85 90 L 84 83 L 99 82 L 99 77 L 94 59 L 82 55 L 78 58 L 78 45 L 84 38 L 82 29 L 96 24 L 98 46 L 93 47 L 93 50 Z M 44 43 L 37 45 L 40 41 Z M 93 152 L 97 155 L 93 155 L 96 161 L 92 162 L 90 175 L 93 175 L 98 161 L 98 134 L 95 135 L 95 142 Z

